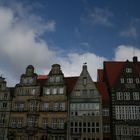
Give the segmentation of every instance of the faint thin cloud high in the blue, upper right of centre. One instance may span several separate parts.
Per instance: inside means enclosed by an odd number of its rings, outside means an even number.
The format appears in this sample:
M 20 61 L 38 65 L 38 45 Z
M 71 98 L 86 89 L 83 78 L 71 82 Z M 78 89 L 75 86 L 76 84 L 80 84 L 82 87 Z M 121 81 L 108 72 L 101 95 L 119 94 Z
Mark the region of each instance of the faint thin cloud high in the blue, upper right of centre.
M 113 13 L 107 8 L 94 7 L 93 9 L 88 9 L 87 15 L 81 19 L 92 25 L 113 26 L 112 17 Z

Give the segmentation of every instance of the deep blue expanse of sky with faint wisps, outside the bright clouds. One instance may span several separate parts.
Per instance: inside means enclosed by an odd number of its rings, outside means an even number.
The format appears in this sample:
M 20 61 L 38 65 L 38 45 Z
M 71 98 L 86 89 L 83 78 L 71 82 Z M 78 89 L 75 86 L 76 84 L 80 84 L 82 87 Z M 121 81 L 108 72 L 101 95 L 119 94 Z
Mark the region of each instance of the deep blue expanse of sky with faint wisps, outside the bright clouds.
M 50 47 L 94 52 L 111 59 L 119 45 L 140 48 L 139 0 L 30 0 L 32 12 L 54 20 L 55 32 L 41 38 Z

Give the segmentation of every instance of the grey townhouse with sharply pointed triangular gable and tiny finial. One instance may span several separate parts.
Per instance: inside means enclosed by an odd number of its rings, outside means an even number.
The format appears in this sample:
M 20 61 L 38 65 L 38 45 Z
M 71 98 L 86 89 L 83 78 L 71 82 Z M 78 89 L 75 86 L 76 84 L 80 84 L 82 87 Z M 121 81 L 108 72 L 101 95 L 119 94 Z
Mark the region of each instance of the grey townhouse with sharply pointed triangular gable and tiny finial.
M 69 95 L 69 140 L 102 140 L 102 99 L 87 65 Z

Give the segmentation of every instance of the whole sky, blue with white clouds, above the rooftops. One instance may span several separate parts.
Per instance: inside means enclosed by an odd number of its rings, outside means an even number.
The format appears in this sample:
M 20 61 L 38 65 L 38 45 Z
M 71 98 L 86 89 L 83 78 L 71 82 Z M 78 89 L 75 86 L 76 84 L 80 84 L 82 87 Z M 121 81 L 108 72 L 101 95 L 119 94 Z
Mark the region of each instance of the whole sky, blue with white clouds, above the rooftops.
M 48 74 L 61 65 L 79 76 L 87 62 L 93 80 L 103 61 L 140 56 L 139 0 L 0 0 L 0 74 L 8 86 L 28 65 Z

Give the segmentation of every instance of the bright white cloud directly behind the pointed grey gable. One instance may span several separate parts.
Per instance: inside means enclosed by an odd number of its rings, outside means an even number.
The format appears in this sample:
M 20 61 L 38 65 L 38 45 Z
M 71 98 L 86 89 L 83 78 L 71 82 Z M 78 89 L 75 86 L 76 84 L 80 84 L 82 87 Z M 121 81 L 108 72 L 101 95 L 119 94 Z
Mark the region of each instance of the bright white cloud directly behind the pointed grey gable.
M 84 62 L 87 62 L 88 70 L 93 80 L 97 78 L 97 69 L 102 68 L 103 61 L 106 58 L 97 56 L 94 53 L 71 53 L 68 54 L 66 59 L 61 59 L 60 63 L 62 64 L 63 71 L 66 75 L 80 75 L 82 70 L 82 65 Z

